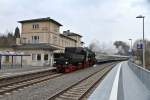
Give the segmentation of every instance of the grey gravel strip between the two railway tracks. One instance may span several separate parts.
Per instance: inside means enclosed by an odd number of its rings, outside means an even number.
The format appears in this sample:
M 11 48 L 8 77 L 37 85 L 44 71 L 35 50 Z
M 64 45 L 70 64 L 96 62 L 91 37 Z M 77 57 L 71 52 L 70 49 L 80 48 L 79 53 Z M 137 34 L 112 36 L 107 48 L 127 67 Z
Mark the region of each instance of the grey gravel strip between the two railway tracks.
M 61 77 L 38 83 L 27 88 L 0 96 L 0 100 L 47 100 L 58 91 L 65 89 L 74 82 L 82 80 L 88 75 L 100 70 L 102 65 L 86 68 L 84 70 L 65 74 Z

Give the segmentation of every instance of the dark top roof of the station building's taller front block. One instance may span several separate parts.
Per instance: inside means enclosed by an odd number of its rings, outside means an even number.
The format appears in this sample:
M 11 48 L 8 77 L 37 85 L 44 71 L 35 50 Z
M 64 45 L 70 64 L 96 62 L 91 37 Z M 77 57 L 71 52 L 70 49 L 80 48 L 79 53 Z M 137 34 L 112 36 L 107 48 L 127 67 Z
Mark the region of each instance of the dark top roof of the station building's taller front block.
M 46 18 L 37 18 L 37 19 L 29 19 L 29 20 L 22 20 L 22 21 L 18 21 L 19 23 L 28 23 L 28 22 L 44 22 L 44 21 L 51 21 L 59 26 L 62 26 L 62 24 L 60 24 L 59 22 L 51 19 L 50 17 L 46 17 Z

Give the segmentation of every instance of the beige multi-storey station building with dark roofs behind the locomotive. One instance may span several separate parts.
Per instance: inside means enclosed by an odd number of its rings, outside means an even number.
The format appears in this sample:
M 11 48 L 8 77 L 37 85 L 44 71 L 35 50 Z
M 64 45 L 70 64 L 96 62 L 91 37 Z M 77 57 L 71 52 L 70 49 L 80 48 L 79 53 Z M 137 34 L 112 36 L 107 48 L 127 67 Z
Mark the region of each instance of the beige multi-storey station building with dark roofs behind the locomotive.
M 23 57 L 23 65 L 52 66 L 55 52 L 64 52 L 65 47 L 82 46 L 81 35 L 70 30 L 60 33 L 62 24 L 50 17 L 22 20 L 19 23 L 21 36 L 16 38 L 12 51 L 30 55 Z

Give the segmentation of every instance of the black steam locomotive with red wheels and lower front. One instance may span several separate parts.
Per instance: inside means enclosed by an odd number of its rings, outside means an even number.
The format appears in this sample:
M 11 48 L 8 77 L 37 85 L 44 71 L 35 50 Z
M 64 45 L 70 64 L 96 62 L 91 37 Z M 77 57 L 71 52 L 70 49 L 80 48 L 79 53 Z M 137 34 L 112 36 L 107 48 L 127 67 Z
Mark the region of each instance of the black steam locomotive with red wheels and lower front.
M 64 53 L 54 54 L 54 67 L 57 72 L 68 73 L 95 63 L 95 53 L 88 48 L 66 47 Z

